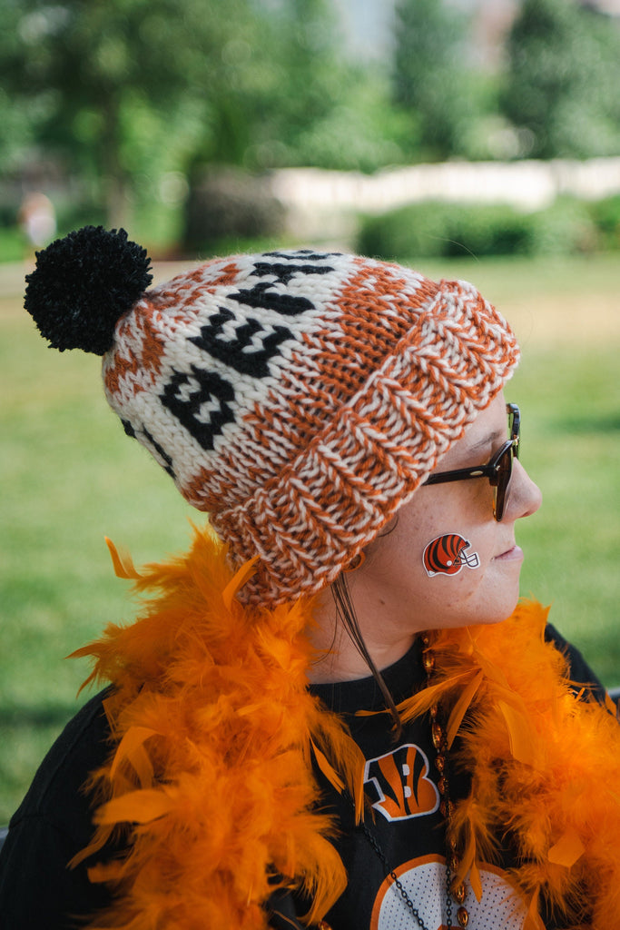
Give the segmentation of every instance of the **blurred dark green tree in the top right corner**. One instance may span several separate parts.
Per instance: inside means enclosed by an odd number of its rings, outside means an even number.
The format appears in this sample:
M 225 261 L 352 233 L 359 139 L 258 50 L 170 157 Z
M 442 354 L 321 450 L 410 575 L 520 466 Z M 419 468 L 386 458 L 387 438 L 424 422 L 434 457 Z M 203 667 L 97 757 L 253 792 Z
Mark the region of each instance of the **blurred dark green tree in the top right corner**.
M 620 28 L 575 0 L 523 0 L 502 107 L 534 157 L 620 153 Z

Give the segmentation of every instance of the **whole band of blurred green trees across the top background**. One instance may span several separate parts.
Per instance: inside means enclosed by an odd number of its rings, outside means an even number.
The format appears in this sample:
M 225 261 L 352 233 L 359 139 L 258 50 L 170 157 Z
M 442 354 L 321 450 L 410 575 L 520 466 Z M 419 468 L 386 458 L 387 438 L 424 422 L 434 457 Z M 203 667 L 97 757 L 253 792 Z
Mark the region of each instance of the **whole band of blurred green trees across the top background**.
M 0 0 L 0 17 L 0 172 L 72 178 L 61 232 L 134 211 L 171 239 L 204 166 L 620 152 L 620 21 L 577 0 L 522 0 L 495 63 L 449 0 L 398 0 L 372 60 L 333 0 Z

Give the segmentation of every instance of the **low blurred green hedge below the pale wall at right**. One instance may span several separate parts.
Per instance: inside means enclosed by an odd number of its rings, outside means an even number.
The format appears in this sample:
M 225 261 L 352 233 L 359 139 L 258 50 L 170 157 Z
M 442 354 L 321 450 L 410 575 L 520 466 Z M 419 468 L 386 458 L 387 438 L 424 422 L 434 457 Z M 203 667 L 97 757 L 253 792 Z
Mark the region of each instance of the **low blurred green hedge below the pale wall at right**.
M 427 201 L 362 219 L 357 248 L 380 259 L 573 255 L 620 249 L 620 196 L 510 206 Z

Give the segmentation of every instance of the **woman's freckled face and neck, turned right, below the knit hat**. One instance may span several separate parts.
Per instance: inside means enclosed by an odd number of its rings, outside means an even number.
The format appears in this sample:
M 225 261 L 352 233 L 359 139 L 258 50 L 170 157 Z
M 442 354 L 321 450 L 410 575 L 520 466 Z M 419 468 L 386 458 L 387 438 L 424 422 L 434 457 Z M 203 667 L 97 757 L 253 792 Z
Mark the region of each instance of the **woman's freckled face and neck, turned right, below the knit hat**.
M 436 471 L 486 463 L 507 436 L 506 402 L 500 393 L 451 446 Z M 517 459 L 501 523 L 495 521 L 493 488 L 486 478 L 416 491 L 393 524 L 366 547 L 363 565 L 347 576 L 366 644 L 371 654 L 385 654 L 384 661 L 377 657 L 379 667 L 391 658 L 390 644 L 402 645 L 417 631 L 495 623 L 512 613 L 523 558 L 515 524 L 537 511 L 541 499 Z M 443 544 L 450 549 L 455 537 L 466 540 L 467 562 L 454 574 L 429 574 L 424 552 L 442 537 L 448 539 L 434 547 L 440 551 Z M 450 553 L 444 565 L 449 559 Z

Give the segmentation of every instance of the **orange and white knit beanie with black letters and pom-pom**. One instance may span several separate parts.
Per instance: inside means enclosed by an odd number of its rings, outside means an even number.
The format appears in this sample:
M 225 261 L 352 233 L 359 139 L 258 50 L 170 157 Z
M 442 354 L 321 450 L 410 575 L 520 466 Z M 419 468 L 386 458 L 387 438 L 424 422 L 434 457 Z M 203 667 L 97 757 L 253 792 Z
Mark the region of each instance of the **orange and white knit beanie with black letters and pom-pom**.
M 37 254 L 25 306 L 103 357 L 125 432 L 208 512 L 241 595 L 319 591 L 501 390 L 516 339 L 475 287 L 297 249 L 212 259 L 149 288 L 144 249 L 86 227 Z

